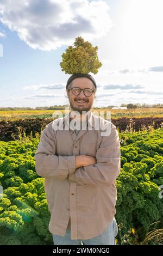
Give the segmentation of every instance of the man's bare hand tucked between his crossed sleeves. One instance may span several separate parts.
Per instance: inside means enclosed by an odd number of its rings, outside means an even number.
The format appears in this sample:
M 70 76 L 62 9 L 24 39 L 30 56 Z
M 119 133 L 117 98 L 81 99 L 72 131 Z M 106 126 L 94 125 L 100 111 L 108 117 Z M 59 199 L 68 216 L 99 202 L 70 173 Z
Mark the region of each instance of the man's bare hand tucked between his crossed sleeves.
M 97 163 L 95 156 L 78 155 L 76 156 L 76 169 L 82 166 L 91 166 Z

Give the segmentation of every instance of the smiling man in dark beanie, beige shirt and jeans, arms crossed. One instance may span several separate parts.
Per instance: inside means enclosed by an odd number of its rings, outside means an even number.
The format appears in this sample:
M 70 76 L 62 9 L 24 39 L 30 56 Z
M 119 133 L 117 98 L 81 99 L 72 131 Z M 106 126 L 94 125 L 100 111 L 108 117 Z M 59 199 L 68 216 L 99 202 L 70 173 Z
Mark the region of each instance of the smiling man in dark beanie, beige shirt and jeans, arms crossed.
M 116 245 L 120 140 L 115 125 L 91 112 L 96 87 L 89 74 L 68 79 L 72 111 L 45 127 L 35 154 L 36 172 L 45 177 L 54 245 Z M 96 129 L 99 121 L 109 133 Z

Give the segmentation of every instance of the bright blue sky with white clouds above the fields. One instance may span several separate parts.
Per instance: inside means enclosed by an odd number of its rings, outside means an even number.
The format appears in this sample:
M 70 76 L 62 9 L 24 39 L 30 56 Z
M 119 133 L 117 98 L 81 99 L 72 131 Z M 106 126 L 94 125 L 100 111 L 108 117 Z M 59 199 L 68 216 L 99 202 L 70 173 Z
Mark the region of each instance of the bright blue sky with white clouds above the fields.
M 102 62 L 93 106 L 162 103 L 162 0 L 0 0 L 0 107 L 68 104 L 62 53 L 82 36 Z

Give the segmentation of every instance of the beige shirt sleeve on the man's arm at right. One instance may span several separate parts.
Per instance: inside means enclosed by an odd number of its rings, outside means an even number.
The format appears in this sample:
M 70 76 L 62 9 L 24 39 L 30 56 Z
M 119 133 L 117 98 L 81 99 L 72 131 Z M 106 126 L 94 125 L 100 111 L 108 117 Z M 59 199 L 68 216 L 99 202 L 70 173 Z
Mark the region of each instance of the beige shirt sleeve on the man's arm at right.
M 96 164 L 77 168 L 69 180 L 95 186 L 111 186 L 114 183 L 121 169 L 120 139 L 115 125 L 112 124 L 110 135 L 102 137 L 96 159 Z

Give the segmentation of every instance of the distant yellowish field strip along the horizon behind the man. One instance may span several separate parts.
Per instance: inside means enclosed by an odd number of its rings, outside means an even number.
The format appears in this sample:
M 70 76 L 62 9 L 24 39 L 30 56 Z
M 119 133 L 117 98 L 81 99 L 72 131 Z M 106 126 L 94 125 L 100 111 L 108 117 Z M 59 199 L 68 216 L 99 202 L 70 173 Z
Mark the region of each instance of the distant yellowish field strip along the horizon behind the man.
M 64 110 L 56 110 L 64 113 Z M 92 109 L 94 111 L 110 111 L 111 118 L 147 118 L 147 117 L 163 117 L 163 108 L 136 108 L 136 109 L 110 109 L 110 108 L 98 108 Z M 5 120 L 18 120 L 27 118 L 52 118 L 52 114 L 55 110 L 18 110 L 18 111 L 0 111 L 0 121 Z M 105 115 L 106 118 L 106 115 Z

